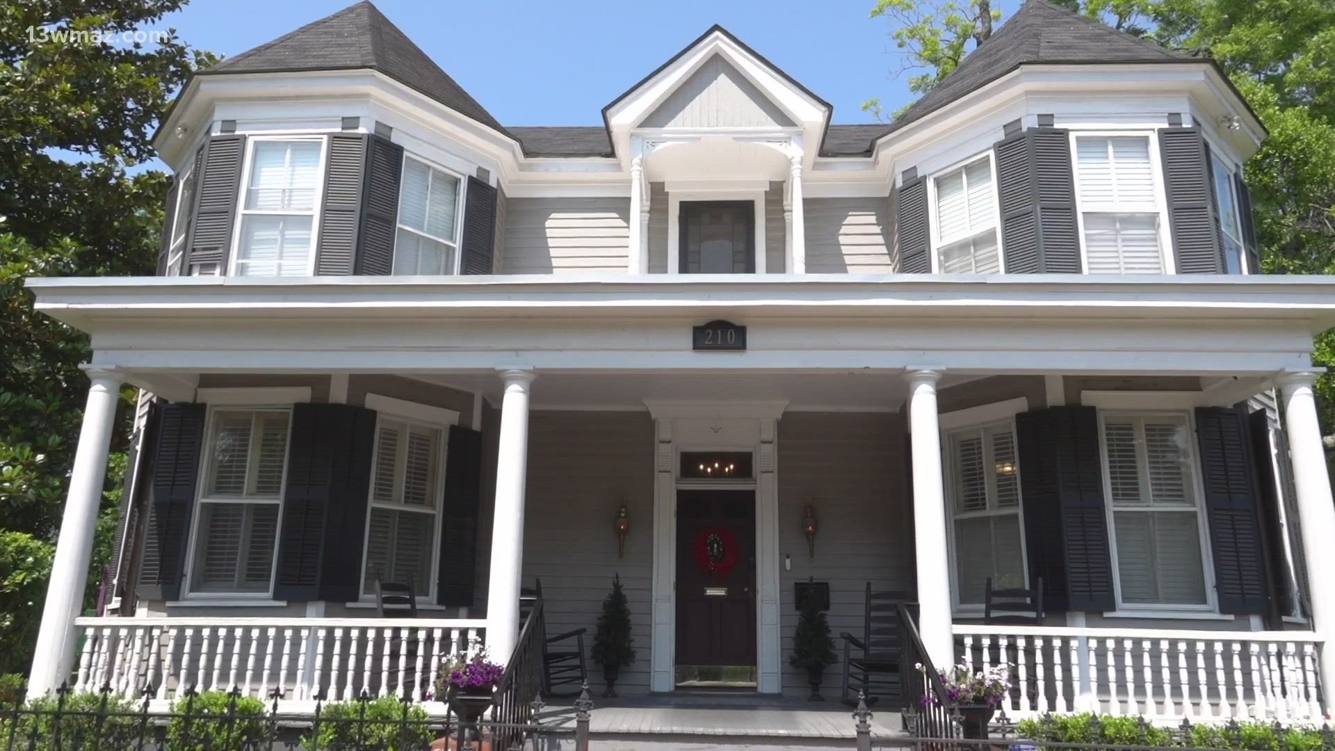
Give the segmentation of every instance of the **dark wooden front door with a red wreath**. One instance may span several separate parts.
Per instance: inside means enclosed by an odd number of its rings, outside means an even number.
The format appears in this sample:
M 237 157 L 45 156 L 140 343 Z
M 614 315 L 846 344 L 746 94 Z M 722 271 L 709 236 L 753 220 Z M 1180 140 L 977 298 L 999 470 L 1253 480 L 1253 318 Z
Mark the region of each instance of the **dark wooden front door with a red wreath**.
M 677 665 L 756 664 L 756 492 L 677 490 Z

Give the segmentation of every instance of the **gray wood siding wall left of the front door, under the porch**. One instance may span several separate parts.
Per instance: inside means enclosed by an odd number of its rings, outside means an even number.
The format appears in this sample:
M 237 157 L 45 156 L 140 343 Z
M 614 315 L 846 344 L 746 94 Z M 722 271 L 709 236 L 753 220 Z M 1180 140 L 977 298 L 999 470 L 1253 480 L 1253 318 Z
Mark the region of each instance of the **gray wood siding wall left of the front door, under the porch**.
M 643 412 L 534 412 L 529 420 L 523 583 L 542 579 L 547 632 L 587 628 L 587 648 L 611 577 L 621 575 L 637 652 L 617 682 L 622 696 L 649 692 L 653 448 L 653 420 Z M 630 535 L 618 559 L 613 521 L 621 504 Z M 590 683 L 601 686 L 602 672 L 591 661 L 589 668 Z

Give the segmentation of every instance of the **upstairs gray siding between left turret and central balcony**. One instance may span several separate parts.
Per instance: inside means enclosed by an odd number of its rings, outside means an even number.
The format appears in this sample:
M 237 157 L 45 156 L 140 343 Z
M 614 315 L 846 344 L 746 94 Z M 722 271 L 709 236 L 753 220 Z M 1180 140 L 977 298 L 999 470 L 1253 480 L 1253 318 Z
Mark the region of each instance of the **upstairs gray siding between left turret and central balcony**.
M 510 198 L 503 229 L 506 274 L 625 271 L 630 202 L 625 198 Z

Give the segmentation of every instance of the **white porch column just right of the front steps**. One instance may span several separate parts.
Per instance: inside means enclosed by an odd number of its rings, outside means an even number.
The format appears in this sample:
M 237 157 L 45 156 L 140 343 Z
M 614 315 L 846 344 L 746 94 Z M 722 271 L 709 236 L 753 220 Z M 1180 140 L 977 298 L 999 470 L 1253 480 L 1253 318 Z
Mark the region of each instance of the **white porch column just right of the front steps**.
M 913 531 L 917 563 L 918 632 L 937 669 L 955 664 L 951 633 L 951 571 L 945 541 L 945 490 L 941 481 L 941 428 L 936 412 L 936 370 L 914 370 L 909 381 L 909 433 L 913 456 Z

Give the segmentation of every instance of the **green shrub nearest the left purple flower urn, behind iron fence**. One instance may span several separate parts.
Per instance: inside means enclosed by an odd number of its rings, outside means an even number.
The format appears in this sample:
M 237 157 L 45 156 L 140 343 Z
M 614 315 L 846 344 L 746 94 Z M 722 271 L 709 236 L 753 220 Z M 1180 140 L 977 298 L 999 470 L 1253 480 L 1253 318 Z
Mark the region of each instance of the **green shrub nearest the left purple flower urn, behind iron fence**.
M 364 714 L 363 714 L 363 706 Z M 407 714 L 405 715 L 405 707 Z M 402 720 L 407 719 L 409 726 Z M 372 702 L 334 702 L 320 707 L 318 731 L 302 736 L 306 751 L 334 748 L 375 748 L 376 751 L 410 751 L 425 747 L 435 734 L 426 724 L 426 710 L 403 704 L 394 696 Z

